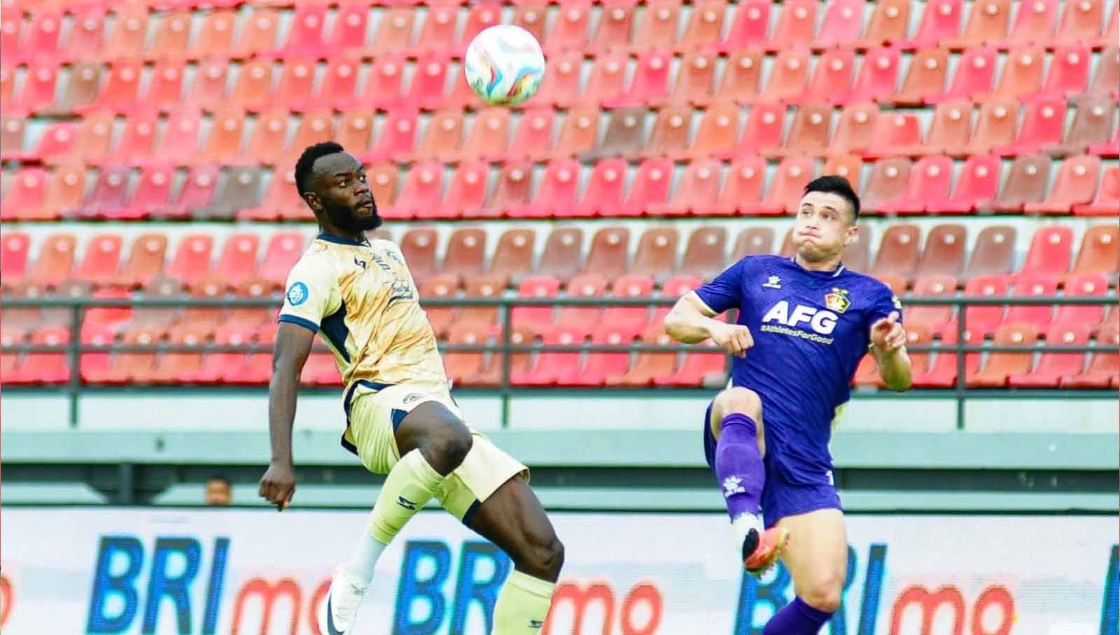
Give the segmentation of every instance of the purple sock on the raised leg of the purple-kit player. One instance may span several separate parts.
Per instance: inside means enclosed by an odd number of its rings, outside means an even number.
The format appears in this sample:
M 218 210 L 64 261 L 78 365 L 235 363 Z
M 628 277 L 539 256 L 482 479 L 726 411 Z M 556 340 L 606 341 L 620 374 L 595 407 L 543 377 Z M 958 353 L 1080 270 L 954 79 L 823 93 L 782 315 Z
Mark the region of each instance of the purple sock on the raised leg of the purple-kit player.
M 716 478 L 731 520 L 745 512 L 758 514 L 766 468 L 758 451 L 755 420 L 746 414 L 732 412 L 721 422 L 716 443 Z

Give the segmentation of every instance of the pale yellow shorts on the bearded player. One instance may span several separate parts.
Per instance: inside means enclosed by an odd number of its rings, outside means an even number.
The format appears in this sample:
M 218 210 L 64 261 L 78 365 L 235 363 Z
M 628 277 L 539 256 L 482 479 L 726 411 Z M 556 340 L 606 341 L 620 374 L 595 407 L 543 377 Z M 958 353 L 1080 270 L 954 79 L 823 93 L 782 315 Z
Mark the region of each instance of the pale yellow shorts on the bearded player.
M 401 452 L 393 432 L 404 417 L 421 403 L 441 403 L 463 421 L 463 412 L 448 391 L 410 384 L 381 390 L 357 385 L 349 398 L 349 426 L 343 439 L 352 446 L 362 465 L 374 474 L 389 474 Z M 466 422 L 464 421 L 466 424 Z M 514 476 L 529 479 L 529 468 L 502 451 L 485 435 L 467 424 L 474 443 L 463 464 L 444 479 L 436 498 L 445 510 L 463 521 L 498 487 Z

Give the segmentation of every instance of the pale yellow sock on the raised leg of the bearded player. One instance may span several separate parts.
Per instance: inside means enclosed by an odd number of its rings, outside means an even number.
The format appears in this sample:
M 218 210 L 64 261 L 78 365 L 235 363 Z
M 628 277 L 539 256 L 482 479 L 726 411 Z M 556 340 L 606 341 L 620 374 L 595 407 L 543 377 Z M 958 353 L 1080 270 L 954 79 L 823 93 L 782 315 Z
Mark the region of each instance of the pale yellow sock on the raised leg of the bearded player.
M 370 514 L 370 535 L 389 544 L 404 524 L 423 507 L 444 484 L 420 450 L 404 455 L 389 471 Z

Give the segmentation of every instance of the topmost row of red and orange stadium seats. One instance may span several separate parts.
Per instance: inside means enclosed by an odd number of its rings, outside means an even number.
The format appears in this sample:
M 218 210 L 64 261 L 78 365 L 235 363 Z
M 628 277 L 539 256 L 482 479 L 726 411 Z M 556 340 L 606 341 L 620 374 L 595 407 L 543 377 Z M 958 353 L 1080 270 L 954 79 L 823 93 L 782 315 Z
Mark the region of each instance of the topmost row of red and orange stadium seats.
M 1061 17 L 1057 0 L 1020 1 L 1016 3 L 1018 11 L 1014 24 L 1011 0 L 972 2 L 967 20 L 963 0 L 937 0 L 925 6 L 913 34 L 908 32 L 908 26 L 915 6 L 906 0 L 878 1 L 871 7 L 865 0 L 829 2 L 819 30 L 818 12 L 822 7 L 814 0 L 781 4 L 769 0 L 734 4 L 726 0 L 702 0 L 691 3 L 687 19 L 682 19 L 681 0 L 655 0 L 641 8 L 633 0 L 608 0 L 603 2 L 594 27 L 590 0 L 563 2 L 554 8 L 540 0 L 519 1 L 511 9 L 512 20 L 503 20 L 505 7 L 498 2 L 470 3 L 469 9 L 463 10 L 451 3 L 437 4 L 426 13 L 411 7 L 372 11 L 370 6 L 375 2 L 349 1 L 340 2 L 337 10 L 329 9 L 326 2 L 299 3 L 293 11 L 268 6 L 290 6 L 295 3 L 291 0 L 259 3 L 249 13 L 226 8 L 235 3 L 231 0 L 206 2 L 207 8 L 217 10 L 195 20 L 190 10 L 195 3 L 190 0 L 159 0 L 157 6 L 171 10 L 155 15 L 149 13 L 143 3 L 118 6 L 115 2 L 83 1 L 67 11 L 73 27 L 65 38 L 62 37 L 65 2 L 47 7 L 22 3 L 6 11 L 2 44 L 6 50 L 20 57 L 54 55 L 64 59 L 215 54 L 231 57 L 292 54 L 329 57 L 338 53 L 370 56 L 402 49 L 461 55 L 475 34 L 501 21 L 512 21 L 529 29 L 550 53 L 570 49 L 726 52 L 746 46 L 778 50 L 797 45 L 867 48 L 887 43 L 904 48 L 1020 43 L 1047 46 L 1090 43 L 1101 47 L 1116 44 L 1117 32 L 1117 4 L 1113 2 L 1109 10 L 1105 0 L 1066 2 Z M 871 15 L 865 19 L 869 8 Z M 26 17 L 25 11 L 29 13 Z M 115 20 L 106 19 L 110 11 Z M 290 28 L 281 38 L 286 18 L 289 18 Z M 773 30 L 769 28 L 772 21 L 775 22 Z M 200 22 L 197 28 L 194 28 L 195 22 Z M 149 31 L 155 34 L 150 45 Z

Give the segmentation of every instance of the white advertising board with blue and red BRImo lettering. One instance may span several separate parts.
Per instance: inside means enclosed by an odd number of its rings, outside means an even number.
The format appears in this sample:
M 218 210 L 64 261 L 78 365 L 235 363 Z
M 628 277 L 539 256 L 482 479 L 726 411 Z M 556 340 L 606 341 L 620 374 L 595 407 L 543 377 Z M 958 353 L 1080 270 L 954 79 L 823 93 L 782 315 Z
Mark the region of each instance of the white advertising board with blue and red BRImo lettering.
M 363 512 L 8 508 L 11 635 L 321 635 L 314 616 Z M 743 576 L 722 515 L 554 514 L 567 566 L 544 635 L 758 635 L 792 597 Z M 849 519 L 830 635 L 1116 635 L 1117 519 Z M 361 635 L 487 633 L 507 559 L 446 514 L 385 552 Z

